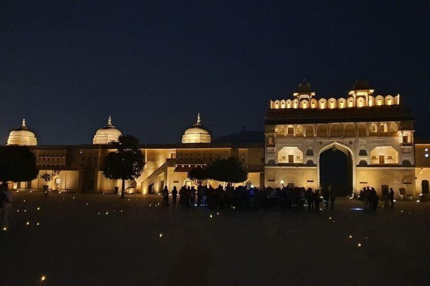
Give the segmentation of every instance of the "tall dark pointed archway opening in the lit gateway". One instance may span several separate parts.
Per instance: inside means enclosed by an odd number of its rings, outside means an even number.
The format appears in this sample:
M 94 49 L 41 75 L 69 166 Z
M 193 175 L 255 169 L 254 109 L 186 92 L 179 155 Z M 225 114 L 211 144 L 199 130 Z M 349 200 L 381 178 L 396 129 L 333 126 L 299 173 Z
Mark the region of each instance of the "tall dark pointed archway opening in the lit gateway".
M 330 185 L 337 196 L 348 196 L 353 191 L 351 152 L 337 144 L 321 150 L 319 155 L 319 186 Z

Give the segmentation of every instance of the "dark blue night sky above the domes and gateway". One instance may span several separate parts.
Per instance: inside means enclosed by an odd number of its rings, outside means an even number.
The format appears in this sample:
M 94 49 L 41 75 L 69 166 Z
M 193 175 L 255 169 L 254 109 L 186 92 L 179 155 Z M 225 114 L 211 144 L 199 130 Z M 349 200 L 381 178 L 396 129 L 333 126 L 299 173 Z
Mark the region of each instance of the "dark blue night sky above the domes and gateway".
M 259 131 L 304 76 L 317 98 L 400 93 L 430 137 L 429 31 L 418 0 L 2 2 L 0 142 L 22 117 L 39 144 L 91 143 L 109 114 L 143 143 L 180 142 L 198 111 L 214 137 Z

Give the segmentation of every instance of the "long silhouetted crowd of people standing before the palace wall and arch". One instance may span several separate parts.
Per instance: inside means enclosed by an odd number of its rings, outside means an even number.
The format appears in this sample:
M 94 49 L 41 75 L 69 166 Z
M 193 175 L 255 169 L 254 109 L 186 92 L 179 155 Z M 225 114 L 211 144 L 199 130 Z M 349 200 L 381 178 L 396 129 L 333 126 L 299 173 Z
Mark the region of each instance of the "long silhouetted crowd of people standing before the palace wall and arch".
M 173 187 L 171 193 L 167 186 L 162 191 L 163 206 L 169 206 L 169 195 L 171 195 L 172 205 L 178 204 L 183 207 L 207 205 L 210 209 L 290 209 L 303 211 L 305 207 L 309 211 L 319 211 L 334 209 L 336 201 L 335 191 L 331 186 L 324 189 L 313 190 L 304 187 L 282 187 L 282 188 L 246 188 L 245 186 L 232 187 L 229 184 L 224 188 L 219 185 L 213 188 L 211 185 L 183 186 L 179 191 Z

